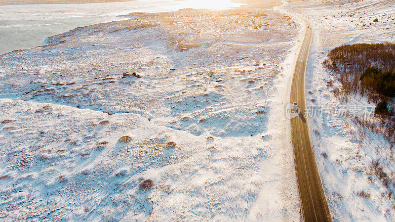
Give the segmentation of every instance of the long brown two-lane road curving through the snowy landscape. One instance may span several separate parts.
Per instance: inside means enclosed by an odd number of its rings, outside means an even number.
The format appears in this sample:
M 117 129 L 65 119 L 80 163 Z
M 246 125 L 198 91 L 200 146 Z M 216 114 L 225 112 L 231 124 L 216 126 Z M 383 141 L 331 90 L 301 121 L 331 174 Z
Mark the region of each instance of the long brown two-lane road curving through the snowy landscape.
M 306 35 L 295 67 L 290 102 L 296 101 L 302 114 L 304 114 L 305 72 L 313 31 L 310 23 L 304 18 L 302 20 L 306 24 Z M 296 176 L 304 220 L 305 222 L 330 222 L 331 216 L 319 178 L 314 150 L 310 142 L 308 123 L 296 117 L 291 119 L 291 128 Z

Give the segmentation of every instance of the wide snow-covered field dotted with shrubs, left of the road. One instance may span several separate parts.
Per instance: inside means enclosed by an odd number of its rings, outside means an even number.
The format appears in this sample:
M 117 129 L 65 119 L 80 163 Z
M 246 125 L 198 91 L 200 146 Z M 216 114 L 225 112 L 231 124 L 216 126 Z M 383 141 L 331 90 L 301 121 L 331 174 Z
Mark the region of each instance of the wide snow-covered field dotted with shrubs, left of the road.
M 0 57 L 0 220 L 299 221 L 293 20 L 128 16 Z

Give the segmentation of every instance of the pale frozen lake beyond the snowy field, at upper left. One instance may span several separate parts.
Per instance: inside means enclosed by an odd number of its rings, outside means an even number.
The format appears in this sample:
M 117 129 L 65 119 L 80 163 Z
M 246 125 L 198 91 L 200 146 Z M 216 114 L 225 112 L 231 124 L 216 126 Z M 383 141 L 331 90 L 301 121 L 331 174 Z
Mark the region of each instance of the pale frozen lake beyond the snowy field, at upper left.
M 0 5 L 0 54 L 42 45 L 44 38 L 71 29 L 121 20 L 130 12 L 164 12 L 181 8 L 222 9 L 231 0 L 132 0 L 83 4 Z

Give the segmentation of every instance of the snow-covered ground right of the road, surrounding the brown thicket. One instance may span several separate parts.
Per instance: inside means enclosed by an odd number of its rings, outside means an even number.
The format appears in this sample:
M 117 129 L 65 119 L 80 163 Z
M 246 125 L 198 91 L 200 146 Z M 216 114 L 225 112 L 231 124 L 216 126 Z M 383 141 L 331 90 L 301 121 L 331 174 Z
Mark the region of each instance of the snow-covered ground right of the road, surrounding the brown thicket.
M 285 8 L 306 17 L 315 34 L 306 76 L 307 105 L 324 108 L 346 105 L 350 112 L 355 105 L 358 110 L 360 106 L 374 106 L 358 95 L 347 104 L 339 104 L 332 90 L 340 83 L 324 69 L 322 62 L 330 49 L 342 44 L 390 42 L 395 34 L 394 1 L 291 1 Z M 375 18 L 379 21 L 373 22 Z M 316 115 L 309 120 L 317 165 L 334 221 L 394 221 L 395 200 L 391 191 L 395 164 L 385 139 L 343 116 Z M 381 161 L 391 179 L 389 188 L 372 174 L 369 166 L 374 160 Z

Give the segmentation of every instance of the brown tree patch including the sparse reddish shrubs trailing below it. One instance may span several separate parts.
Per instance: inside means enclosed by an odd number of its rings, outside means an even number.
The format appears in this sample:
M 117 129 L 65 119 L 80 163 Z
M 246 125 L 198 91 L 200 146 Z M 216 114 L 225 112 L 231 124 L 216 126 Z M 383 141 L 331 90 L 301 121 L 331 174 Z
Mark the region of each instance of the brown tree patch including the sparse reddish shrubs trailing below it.
M 341 83 L 333 90 L 335 96 L 348 102 L 350 96 L 360 93 L 368 102 L 376 104 L 379 119 L 355 117 L 354 123 L 375 132 L 390 142 L 392 157 L 395 145 L 395 44 L 342 45 L 328 53 L 324 65 Z M 363 137 L 363 135 L 362 135 Z

